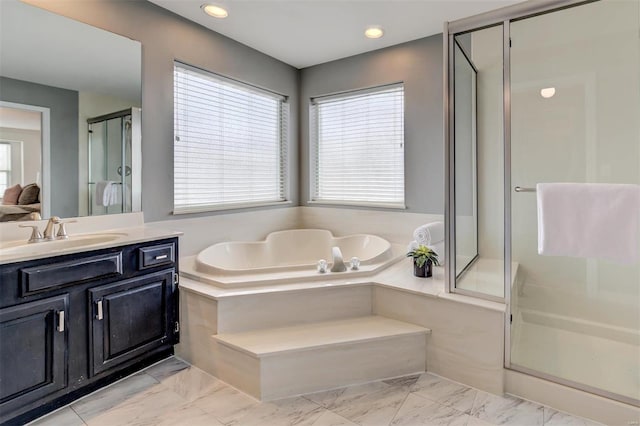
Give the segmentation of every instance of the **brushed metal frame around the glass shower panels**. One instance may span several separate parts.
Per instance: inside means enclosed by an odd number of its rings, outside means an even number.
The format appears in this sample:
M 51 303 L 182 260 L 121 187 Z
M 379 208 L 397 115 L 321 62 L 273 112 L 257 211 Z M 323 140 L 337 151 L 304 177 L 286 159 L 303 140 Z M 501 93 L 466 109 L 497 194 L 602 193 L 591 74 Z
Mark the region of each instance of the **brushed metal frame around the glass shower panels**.
M 502 77 L 503 77 L 503 154 L 504 154 L 504 298 L 496 298 L 484 293 L 456 288 L 455 260 L 445 263 L 445 290 L 485 300 L 499 301 L 506 305 L 504 318 L 504 368 L 548 380 L 560 385 L 603 396 L 633 406 L 638 401 L 623 395 L 573 382 L 541 371 L 511 364 L 511 33 L 514 21 L 557 12 L 599 0 L 540 0 L 507 6 L 494 11 L 445 22 L 443 31 L 443 91 L 444 91 L 444 140 L 445 140 L 445 244 L 447 257 L 455 259 L 455 123 L 454 123 L 454 46 L 455 36 L 485 28 L 502 25 Z M 477 232 L 477 231 L 476 231 Z

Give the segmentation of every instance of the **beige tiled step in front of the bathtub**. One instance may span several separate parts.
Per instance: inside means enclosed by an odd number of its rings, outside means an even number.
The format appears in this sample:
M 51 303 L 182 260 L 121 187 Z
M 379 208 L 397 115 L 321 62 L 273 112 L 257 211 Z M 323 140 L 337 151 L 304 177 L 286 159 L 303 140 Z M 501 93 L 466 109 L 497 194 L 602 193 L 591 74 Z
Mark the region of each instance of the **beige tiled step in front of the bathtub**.
M 261 400 L 425 371 L 431 330 L 381 316 L 214 335 L 215 374 Z

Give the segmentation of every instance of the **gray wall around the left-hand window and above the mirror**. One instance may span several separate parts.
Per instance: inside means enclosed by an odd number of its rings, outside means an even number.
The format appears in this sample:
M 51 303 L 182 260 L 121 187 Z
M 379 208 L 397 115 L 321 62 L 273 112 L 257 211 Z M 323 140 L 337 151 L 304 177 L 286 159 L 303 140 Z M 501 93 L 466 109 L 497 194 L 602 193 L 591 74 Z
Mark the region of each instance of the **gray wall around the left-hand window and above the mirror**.
M 146 1 L 27 3 L 142 43 L 142 210 L 146 221 L 186 217 L 171 215 L 174 59 L 289 96 L 291 199 L 293 205 L 299 203 L 297 69 Z M 211 213 L 188 216 L 206 215 Z

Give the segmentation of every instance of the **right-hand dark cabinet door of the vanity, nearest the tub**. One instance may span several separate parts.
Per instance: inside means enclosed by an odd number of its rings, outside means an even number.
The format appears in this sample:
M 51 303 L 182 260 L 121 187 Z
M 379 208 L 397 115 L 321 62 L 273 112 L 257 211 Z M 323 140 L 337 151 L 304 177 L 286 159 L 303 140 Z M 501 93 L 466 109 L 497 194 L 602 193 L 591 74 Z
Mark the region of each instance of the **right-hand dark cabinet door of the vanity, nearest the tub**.
M 94 376 L 175 342 L 173 269 L 89 289 Z

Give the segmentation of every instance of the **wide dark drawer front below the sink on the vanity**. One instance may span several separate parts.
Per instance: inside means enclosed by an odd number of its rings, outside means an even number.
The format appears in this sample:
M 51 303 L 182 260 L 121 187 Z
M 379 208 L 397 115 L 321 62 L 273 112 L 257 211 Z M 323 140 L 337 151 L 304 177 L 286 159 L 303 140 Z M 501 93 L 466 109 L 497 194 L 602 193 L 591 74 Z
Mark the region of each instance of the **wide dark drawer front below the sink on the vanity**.
M 19 273 L 20 290 L 24 297 L 53 287 L 121 275 L 123 273 L 122 252 L 22 268 Z

